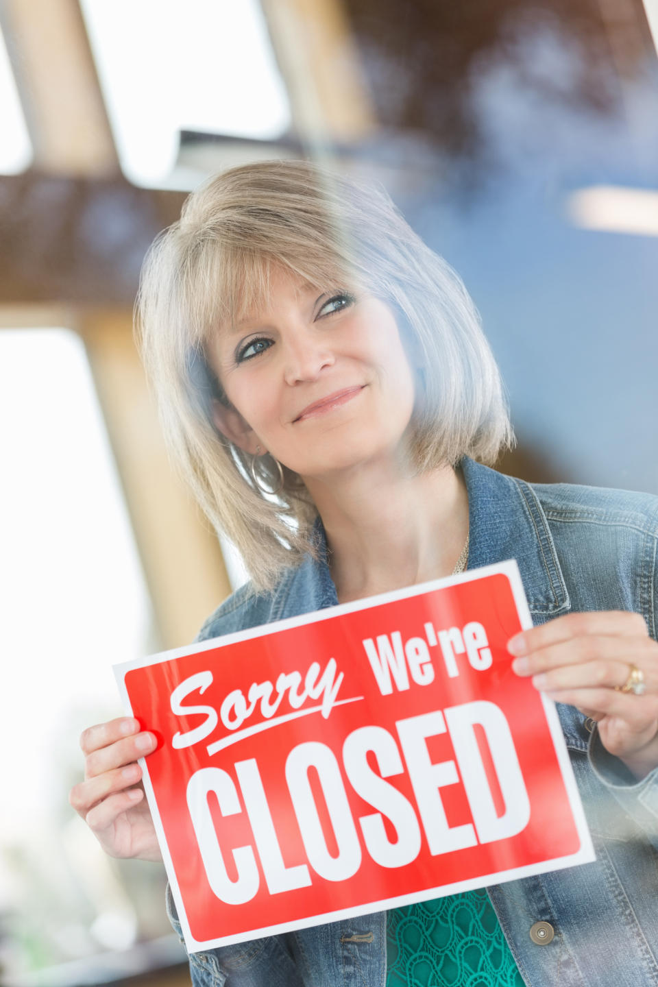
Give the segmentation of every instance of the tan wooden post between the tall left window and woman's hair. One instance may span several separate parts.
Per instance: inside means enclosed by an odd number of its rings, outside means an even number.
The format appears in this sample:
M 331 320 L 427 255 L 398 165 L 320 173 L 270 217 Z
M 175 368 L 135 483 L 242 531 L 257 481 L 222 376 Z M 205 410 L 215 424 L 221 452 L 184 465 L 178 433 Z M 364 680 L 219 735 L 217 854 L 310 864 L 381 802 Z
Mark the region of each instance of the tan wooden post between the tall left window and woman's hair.
M 231 592 L 217 537 L 176 476 L 129 310 L 89 310 L 84 340 L 164 647 L 189 644 Z

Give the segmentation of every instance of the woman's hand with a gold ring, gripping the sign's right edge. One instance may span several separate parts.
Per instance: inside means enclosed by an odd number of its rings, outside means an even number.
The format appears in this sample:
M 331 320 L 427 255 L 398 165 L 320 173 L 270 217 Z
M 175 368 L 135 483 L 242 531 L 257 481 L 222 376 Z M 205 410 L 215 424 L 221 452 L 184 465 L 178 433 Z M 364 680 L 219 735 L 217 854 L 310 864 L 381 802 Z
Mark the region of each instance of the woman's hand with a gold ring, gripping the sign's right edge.
M 639 614 L 566 614 L 521 632 L 507 648 L 517 675 L 532 675 L 545 696 L 598 721 L 604 747 L 636 778 L 658 765 L 658 644 Z M 621 692 L 633 667 L 641 695 Z

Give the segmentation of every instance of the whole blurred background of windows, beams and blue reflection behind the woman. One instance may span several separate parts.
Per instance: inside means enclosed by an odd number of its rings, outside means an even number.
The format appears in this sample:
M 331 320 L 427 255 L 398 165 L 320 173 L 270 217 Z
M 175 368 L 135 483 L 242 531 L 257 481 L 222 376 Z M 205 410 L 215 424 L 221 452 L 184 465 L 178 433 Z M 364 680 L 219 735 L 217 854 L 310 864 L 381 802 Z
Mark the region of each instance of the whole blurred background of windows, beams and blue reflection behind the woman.
M 501 468 L 658 493 L 658 0 L 0 0 L 0 979 L 187 982 L 164 873 L 67 792 L 111 664 L 243 578 L 176 479 L 141 259 L 211 173 L 382 182 L 475 297 Z

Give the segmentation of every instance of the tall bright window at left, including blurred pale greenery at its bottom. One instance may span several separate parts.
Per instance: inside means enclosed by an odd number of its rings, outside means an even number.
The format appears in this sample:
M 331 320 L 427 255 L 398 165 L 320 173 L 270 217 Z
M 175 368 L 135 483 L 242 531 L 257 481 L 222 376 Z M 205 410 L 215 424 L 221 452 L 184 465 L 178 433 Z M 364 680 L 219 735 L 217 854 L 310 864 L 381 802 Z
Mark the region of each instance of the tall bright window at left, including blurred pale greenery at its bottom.
M 153 649 L 151 606 L 77 336 L 0 330 L 0 418 L 3 972 L 94 983 L 36 971 L 144 935 L 68 790 L 82 729 L 122 713 L 112 663 Z

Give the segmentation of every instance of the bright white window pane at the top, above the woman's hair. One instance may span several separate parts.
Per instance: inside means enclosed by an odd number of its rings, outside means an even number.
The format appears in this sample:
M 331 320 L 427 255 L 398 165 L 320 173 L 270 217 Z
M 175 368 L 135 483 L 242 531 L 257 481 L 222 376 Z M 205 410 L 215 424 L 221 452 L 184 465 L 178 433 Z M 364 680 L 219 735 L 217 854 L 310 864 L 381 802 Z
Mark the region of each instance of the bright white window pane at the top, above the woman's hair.
M 126 177 L 184 188 L 179 132 L 272 140 L 290 124 L 257 0 L 81 0 Z

